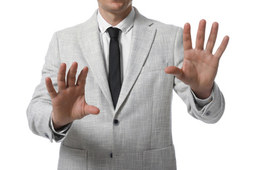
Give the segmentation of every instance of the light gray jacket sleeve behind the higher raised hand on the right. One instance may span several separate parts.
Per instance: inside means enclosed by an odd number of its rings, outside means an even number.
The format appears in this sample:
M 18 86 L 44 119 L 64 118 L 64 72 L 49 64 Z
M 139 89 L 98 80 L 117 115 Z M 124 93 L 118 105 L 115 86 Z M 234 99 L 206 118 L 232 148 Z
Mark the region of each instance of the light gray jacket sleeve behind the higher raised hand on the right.
M 182 34 L 182 28 L 179 28 L 176 35 L 174 54 L 175 66 L 179 68 L 182 67 L 184 57 Z M 178 78 L 175 78 L 173 89 L 186 104 L 188 113 L 194 118 L 202 120 L 208 124 L 214 124 L 218 122 L 223 115 L 225 101 L 216 82 L 214 82 L 211 96 L 204 100 L 198 99 L 190 89 L 190 86 L 184 84 Z

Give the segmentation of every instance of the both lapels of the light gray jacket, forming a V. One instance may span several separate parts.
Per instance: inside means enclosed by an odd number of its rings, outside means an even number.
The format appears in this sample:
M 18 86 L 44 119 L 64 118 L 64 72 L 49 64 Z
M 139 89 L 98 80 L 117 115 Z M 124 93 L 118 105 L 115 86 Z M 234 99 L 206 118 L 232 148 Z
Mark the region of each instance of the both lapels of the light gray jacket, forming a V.
M 127 95 L 131 91 L 133 84 L 137 80 L 140 71 L 148 57 L 156 29 L 150 27 L 152 21 L 142 16 L 137 9 L 135 9 L 135 22 L 133 25 L 133 40 L 131 44 L 131 52 L 127 63 L 127 70 L 125 78 L 121 87 L 119 99 L 115 112 L 119 110 Z M 79 43 L 83 51 L 83 55 L 89 65 L 89 74 L 93 74 L 98 86 L 104 93 L 107 101 L 113 107 L 113 101 L 108 85 L 108 76 L 106 74 L 106 67 L 102 56 L 102 48 L 100 44 L 100 34 L 98 31 L 98 22 L 96 18 L 97 11 L 84 24 L 81 24 L 81 29 L 77 31 Z

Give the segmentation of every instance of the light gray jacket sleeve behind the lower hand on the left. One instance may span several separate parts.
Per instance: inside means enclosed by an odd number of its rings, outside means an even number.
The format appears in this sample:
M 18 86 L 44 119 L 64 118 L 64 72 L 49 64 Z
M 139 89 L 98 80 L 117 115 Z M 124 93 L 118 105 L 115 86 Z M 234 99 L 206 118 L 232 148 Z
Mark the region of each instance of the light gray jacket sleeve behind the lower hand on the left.
M 49 44 L 47 55 L 45 56 L 41 82 L 35 88 L 32 101 L 30 101 L 30 105 L 27 109 L 28 124 L 32 132 L 36 135 L 46 137 L 51 142 L 53 142 L 53 140 L 56 142 L 61 141 L 68 131 L 67 127 L 65 129 L 66 131 L 60 131 L 61 133 L 53 131 L 53 126 L 51 124 L 51 112 L 53 107 L 51 104 L 51 97 L 45 86 L 45 78 L 49 76 L 53 81 L 53 86 L 56 92 L 58 92 L 57 75 L 60 63 L 58 38 L 57 33 L 54 33 L 53 39 Z M 70 126 L 68 126 L 68 128 L 69 127 Z

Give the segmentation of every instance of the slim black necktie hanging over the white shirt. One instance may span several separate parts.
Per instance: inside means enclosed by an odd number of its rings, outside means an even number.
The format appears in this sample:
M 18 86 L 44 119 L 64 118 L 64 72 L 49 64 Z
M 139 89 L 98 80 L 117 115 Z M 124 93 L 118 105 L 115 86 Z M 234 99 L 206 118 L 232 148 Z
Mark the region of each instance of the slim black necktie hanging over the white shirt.
M 121 90 L 121 67 L 120 67 L 120 49 L 118 35 L 120 29 L 109 27 L 108 34 L 110 35 L 110 60 L 109 60 L 109 79 L 110 92 L 116 109 L 119 93 Z

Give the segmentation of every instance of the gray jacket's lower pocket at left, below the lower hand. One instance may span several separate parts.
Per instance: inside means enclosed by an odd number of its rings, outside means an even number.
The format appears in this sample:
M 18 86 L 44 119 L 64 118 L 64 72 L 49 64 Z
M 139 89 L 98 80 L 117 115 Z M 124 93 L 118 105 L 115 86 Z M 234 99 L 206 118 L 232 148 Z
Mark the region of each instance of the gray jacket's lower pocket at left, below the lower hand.
M 87 150 L 69 148 L 60 145 L 60 156 L 58 159 L 58 169 L 87 169 Z

